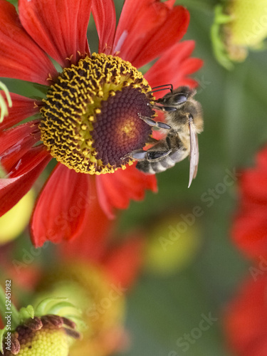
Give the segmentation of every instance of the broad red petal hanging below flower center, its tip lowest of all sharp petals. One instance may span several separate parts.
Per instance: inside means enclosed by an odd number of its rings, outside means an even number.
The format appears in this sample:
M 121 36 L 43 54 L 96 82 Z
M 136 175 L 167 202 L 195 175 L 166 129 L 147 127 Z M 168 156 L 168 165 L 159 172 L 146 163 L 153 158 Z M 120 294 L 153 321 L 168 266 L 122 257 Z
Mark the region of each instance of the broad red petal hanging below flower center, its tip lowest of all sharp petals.
M 75 239 L 90 209 L 87 174 L 57 164 L 38 197 L 31 221 L 33 245 Z

